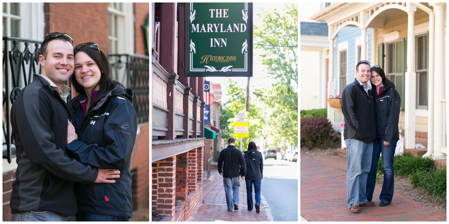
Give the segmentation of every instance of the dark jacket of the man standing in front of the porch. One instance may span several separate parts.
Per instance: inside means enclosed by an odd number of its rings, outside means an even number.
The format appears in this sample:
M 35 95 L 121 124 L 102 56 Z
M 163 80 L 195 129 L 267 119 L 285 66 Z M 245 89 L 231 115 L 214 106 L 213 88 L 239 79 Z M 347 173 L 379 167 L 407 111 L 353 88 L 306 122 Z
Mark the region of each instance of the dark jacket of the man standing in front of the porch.
M 341 111 L 345 116 L 344 139 L 365 142 L 376 139 L 374 99 L 371 91 L 365 92 L 357 78 L 343 89 Z

